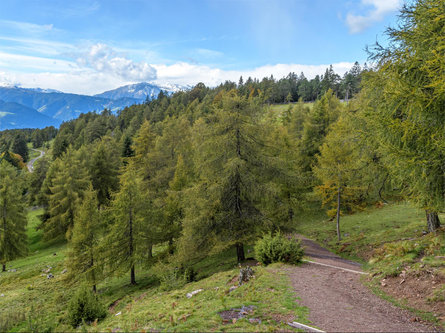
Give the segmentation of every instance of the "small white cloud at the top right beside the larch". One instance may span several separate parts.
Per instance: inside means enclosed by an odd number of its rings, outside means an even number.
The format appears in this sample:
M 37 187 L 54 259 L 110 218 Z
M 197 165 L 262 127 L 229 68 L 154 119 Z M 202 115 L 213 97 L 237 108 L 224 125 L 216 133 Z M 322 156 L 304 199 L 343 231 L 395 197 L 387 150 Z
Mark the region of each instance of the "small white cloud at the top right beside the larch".
M 402 0 L 361 0 L 364 7 L 373 7 L 366 15 L 348 13 L 346 24 L 349 32 L 357 34 L 369 28 L 375 22 L 383 20 L 385 15 L 396 11 L 402 5 Z

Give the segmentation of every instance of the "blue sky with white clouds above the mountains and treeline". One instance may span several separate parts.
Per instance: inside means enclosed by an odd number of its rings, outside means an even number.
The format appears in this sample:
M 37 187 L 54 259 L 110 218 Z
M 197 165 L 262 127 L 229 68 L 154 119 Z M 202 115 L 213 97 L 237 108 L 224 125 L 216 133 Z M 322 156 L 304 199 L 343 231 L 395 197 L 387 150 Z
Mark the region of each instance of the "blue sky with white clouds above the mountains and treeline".
M 343 75 L 403 0 L 1 0 L 0 85 L 92 95 L 137 82 Z

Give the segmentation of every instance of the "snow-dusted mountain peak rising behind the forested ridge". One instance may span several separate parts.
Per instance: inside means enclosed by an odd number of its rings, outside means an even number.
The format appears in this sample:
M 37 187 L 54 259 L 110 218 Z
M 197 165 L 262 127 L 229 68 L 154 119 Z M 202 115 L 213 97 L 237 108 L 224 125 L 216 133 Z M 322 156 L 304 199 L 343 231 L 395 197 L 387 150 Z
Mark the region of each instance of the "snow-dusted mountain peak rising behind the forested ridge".
M 167 93 L 174 93 L 179 90 L 190 89 L 188 86 L 181 86 L 178 84 L 163 84 L 157 85 L 150 82 L 141 82 L 135 84 L 129 84 L 127 86 L 119 87 L 117 89 L 109 90 L 101 94 L 94 95 L 96 97 L 109 98 L 117 100 L 119 98 L 135 98 L 140 101 L 145 101 L 147 97 L 149 99 L 156 98 L 160 91 Z

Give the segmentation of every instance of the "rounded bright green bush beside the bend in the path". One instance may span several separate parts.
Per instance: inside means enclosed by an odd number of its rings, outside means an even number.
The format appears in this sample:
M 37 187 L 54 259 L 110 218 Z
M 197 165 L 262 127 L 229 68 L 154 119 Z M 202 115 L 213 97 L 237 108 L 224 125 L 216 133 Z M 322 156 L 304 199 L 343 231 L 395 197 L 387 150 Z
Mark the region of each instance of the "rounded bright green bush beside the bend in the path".
M 256 259 L 265 265 L 273 262 L 297 264 L 304 251 L 299 241 L 287 239 L 280 233 L 266 234 L 255 244 Z

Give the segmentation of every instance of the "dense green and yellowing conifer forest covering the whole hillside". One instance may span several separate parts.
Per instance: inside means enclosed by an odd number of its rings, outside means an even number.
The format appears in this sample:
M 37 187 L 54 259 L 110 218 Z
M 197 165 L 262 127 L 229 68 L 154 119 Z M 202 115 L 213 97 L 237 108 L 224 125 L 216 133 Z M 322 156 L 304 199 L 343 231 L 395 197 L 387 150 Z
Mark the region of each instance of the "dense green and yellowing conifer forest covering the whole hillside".
M 91 290 L 112 300 L 107 283 L 116 276 L 124 276 L 131 288 L 154 279 L 162 288 L 179 290 L 217 271 L 197 268 L 208 258 L 216 258 L 210 264 L 215 267 L 218 258 L 252 260 L 251 246 L 268 234 L 298 229 L 317 237 L 328 228 L 337 238 L 329 240 L 332 247 L 341 252 L 346 247 L 340 242 L 352 237 L 342 229 L 343 216 L 399 201 L 424 211 L 417 233 L 429 237 L 422 249 L 405 249 L 418 252 L 403 260 L 443 258 L 441 9 L 438 0 L 406 7 L 401 25 L 388 30 L 392 43 L 370 50 L 374 65 L 362 71 L 356 64 L 342 79 L 331 67 L 313 80 L 291 73 L 279 80 L 240 78 L 216 88 L 200 83 L 172 95 L 161 92 L 118 114 L 107 109 L 82 114 L 58 130 L 1 132 L 3 272 L 29 251 L 31 206 L 41 209 L 34 223 L 42 243 L 65 256 L 57 259 L 66 268 L 59 282 L 82 290 L 59 295 L 63 304 L 87 298 Z M 27 144 L 48 151 L 32 173 L 23 164 L 29 160 Z M 307 217 L 321 215 L 314 213 L 320 209 L 324 225 L 311 225 Z M 360 235 L 354 235 L 362 237 L 357 244 L 365 237 Z M 379 260 L 388 259 L 384 254 Z M 406 263 L 400 260 L 397 265 Z M 444 275 L 443 261 L 431 266 Z M 270 279 L 268 272 L 262 278 Z M 443 302 L 443 285 L 439 288 Z M 57 311 L 53 329 L 82 324 L 69 317 L 72 312 Z M 23 324 L 20 318 L 14 325 Z

